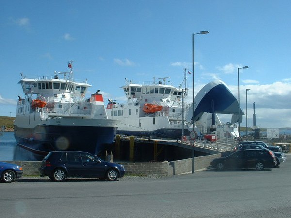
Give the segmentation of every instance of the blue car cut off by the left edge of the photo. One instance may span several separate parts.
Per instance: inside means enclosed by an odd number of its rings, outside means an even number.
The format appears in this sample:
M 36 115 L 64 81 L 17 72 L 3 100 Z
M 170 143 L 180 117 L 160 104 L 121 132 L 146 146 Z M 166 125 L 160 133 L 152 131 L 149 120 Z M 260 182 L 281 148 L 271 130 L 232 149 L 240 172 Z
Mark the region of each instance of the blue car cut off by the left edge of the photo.
M 23 169 L 21 166 L 12 163 L 0 162 L 1 181 L 11 183 L 22 176 Z

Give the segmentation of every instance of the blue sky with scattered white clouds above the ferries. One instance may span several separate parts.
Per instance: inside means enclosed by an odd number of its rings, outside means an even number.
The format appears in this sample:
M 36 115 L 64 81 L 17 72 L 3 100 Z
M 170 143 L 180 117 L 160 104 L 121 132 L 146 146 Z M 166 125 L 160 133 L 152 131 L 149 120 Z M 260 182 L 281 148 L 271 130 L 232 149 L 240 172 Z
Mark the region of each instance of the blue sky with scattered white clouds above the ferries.
M 0 6 L 0 116 L 15 116 L 27 78 L 68 71 L 126 101 L 125 78 L 136 82 L 169 77 L 176 87 L 184 69 L 194 93 L 221 79 L 238 96 L 248 118 L 241 126 L 291 127 L 290 0 L 10 0 Z M 192 76 L 187 74 L 192 101 Z M 220 116 L 230 121 L 228 115 Z

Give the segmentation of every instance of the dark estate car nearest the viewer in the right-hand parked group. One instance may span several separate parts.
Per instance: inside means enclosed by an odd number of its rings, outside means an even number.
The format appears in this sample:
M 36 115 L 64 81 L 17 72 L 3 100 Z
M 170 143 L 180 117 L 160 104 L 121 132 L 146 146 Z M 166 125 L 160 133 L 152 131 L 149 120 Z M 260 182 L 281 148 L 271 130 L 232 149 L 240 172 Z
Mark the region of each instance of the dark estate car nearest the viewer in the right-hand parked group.
M 233 152 L 229 156 L 216 158 L 211 161 L 211 167 L 217 170 L 225 168 L 272 168 L 276 166 L 276 157 L 269 149 L 245 149 Z

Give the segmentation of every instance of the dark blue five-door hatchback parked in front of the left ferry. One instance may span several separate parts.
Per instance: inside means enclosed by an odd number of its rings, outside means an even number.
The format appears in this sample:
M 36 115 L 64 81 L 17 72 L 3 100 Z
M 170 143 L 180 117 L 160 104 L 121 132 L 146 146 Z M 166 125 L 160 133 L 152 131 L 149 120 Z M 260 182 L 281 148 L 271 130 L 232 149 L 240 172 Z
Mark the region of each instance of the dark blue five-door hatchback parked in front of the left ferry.
M 54 181 L 67 177 L 100 178 L 115 181 L 125 174 L 123 165 L 105 162 L 88 152 L 49 152 L 39 168 L 40 176 L 49 176 Z

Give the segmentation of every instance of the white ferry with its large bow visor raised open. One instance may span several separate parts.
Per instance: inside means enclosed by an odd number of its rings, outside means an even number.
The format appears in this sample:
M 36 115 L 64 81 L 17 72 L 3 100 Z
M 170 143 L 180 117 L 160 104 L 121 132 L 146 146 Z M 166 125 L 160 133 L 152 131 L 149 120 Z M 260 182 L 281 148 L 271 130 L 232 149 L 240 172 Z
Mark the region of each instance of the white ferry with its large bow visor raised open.
M 108 117 L 121 121 L 117 129 L 118 134 L 153 135 L 175 139 L 189 136 L 190 131 L 193 130 L 193 104 L 189 104 L 186 100 L 187 88 L 185 85 L 183 88 L 182 85 L 176 88 L 166 84 L 167 78 L 159 78 L 156 82 L 154 77 L 153 82 L 148 83 L 137 83 L 126 79 L 126 85 L 121 88 L 127 97 L 127 102 L 120 104 L 108 99 L 106 107 Z M 236 137 L 237 130 L 234 128 L 236 125 L 233 124 L 238 122 L 238 103 L 221 80 L 210 82 L 203 87 L 195 97 L 194 108 L 194 130 L 198 135 L 216 130 L 216 125 L 221 125 L 216 113 L 226 113 L 234 116 L 232 122 L 225 125 L 227 130 L 223 135 L 229 138 Z

